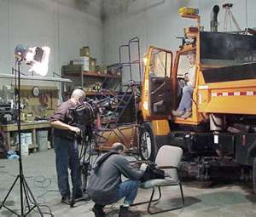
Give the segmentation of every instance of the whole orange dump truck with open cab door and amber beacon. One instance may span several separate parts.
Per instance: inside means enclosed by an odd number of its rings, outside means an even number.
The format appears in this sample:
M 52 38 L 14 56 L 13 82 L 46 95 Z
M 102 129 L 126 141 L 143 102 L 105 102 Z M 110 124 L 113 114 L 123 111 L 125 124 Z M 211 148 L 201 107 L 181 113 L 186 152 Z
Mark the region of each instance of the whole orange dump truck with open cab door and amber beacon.
M 183 174 L 201 180 L 253 180 L 256 191 L 256 36 L 202 31 L 198 9 L 179 10 L 195 19 L 172 51 L 151 46 L 144 58 L 140 146 L 154 159 L 162 145 L 181 146 Z M 195 53 L 190 117 L 175 117 Z M 175 56 L 175 58 L 174 58 Z M 230 177 L 229 177 L 230 174 Z

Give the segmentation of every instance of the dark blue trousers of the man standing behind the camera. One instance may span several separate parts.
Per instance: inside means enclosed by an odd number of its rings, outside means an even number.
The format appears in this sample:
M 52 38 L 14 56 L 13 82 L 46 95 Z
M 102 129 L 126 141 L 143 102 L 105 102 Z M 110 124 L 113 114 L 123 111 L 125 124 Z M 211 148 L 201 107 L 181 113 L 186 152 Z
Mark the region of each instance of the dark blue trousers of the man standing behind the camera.
M 62 197 L 70 197 L 68 183 L 68 168 L 71 170 L 71 180 L 75 196 L 81 195 L 81 170 L 79 163 L 78 143 L 74 140 L 54 136 L 55 162 L 59 191 Z

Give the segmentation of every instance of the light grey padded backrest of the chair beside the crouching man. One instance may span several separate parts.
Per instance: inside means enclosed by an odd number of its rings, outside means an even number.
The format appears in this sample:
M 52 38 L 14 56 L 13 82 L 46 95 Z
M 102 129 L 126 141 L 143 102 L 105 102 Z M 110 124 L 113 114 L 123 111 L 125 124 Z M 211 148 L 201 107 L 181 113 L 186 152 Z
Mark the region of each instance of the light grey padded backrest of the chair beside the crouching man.
M 157 166 L 179 167 L 181 158 L 183 157 L 183 149 L 177 146 L 161 146 L 158 151 L 154 163 Z M 177 170 L 173 168 L 165 169 L 165 173 L 169 174 L 174 181 L 178 181 Z

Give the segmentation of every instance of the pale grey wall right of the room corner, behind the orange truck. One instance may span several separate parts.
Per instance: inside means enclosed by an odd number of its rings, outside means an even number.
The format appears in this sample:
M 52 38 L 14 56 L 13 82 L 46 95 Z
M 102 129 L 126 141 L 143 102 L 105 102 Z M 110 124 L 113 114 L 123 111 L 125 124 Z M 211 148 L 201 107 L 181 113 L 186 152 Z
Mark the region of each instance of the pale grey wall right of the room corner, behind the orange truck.
M 104 61 L 113 64 L 119 61 L 119 45 L 127 42 L 131 37 L 139 37 L 141 40 L 141 55 L 146 54 L 149 45 L 175 51 L 183 37 L 183 27 L 193 26 L 193 20 L 181 18 L 178 9 L 182 7 L 195 7 L 200 9 L 201 26 L 210 31 L 212 7 L 218 4 L 219 31 L 223 31 L 224 9 L 223 0 L 121 0 L 115 1 L 115 7 L 108 8 L 108 2 L 104 9 Z M 234 3 L 233 14 L 241 29 L 246 26 L 256 26 L 256 14 L 253 9 L 256 1 L 230 0 Z M 103 5 L 104 6 L 104 5 Z M 137 79 L 137 74 L 133 77 Z M 125 71 L 123 82 L 129 80 Z

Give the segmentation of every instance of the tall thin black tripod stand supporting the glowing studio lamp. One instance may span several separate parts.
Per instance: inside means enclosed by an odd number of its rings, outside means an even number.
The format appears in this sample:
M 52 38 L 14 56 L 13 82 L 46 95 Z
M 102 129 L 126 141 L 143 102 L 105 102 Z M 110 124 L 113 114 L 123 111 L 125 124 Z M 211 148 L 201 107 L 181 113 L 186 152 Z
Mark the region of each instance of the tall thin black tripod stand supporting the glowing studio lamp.
M 9 191 L 7 192 L 7 195 L 3 198 L 3 202 L 0 205 L 0 209 L 1 208 L 6 208 L 8 209 L 11 213 L 23 217 L 23 216 L 27 216 L 27 214 L 30 214 L 32 212 L 32 210 L 34 208 L 38 208 L 38 213 L 40 214 L 40 216 L 44 216 L 41 209 L 38 206 L 38 203 L 36 201 L 36 198 L 33 196 L 31 189 L 29 188 L 29 186 L 27 185 L 25 176 L 23 174 L 23 167 L 22 167 L 22 156 L 21 156 L 21 129 L 20 129 L 20 64 L 21 64 L 21 60 L 16 60 L 16 64 L 18 63 L 18 71 L 15 70 L 15 73 L 18 73 L 18 89 L 17 89 L 17 94 L 18 94 L 18 100 L 17 100 L 17 106 L 18 106 L 18 137 L 19 137 L 19 153 L 20 153 L 20 157 L 19 157 L 19 169 L 20 169 L 20 173 L 16 176 L 15 181 L 13 183 L 13 185 L 10 187 Z M 20 180 L 20 214 L 18 214 L 17 212 L 15 212 L 15 210 L 9 208 L 5 203 L 7 201 L 7 198 L 9 197 L 9 194 L 11 193 L 11 191 L 14 189 L 15 184 L 18 182 L 18 180 Z M 24 203 L 24 198 L 25 198 L 25 203 Z M 27 208 L 27 211 L 26 211 Z

